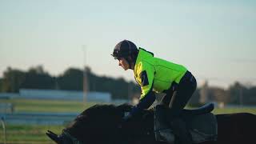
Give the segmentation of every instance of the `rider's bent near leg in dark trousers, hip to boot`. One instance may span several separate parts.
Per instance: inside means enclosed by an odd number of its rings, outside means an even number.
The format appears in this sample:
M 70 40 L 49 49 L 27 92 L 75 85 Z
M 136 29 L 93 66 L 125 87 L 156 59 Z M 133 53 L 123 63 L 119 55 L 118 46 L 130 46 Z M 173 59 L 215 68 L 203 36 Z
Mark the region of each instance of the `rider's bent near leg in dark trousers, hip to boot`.
M 178 88 L 170 100 L 167 119 L 170 121 L 170 126 L 174 130 L 174 135 L 178 137 L 179 142 L 182 144 L 191 144 L 192 138 L 186 129 L 186 123 L 179 116 L 194 93 L 196 86 L 197 82 L 194 76 L 190 72 L 187 72 L 178 84 Z

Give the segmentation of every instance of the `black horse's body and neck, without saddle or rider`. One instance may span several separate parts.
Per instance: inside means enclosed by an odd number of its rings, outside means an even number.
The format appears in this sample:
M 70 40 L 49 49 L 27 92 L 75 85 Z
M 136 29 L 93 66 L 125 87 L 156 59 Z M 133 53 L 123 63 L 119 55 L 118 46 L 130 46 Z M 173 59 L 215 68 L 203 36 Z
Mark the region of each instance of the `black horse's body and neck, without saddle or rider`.
M 154 110 L 143 110 L 129 122 L 123 115 L 131 106 L 95 105 L 79 114 L 62 134 L 46 134 L 58 144 L 167 144 L 154 138 Z M 256 143 L 256 115 L 250 113 L 216 114 L 218 138 L 199 144 Z

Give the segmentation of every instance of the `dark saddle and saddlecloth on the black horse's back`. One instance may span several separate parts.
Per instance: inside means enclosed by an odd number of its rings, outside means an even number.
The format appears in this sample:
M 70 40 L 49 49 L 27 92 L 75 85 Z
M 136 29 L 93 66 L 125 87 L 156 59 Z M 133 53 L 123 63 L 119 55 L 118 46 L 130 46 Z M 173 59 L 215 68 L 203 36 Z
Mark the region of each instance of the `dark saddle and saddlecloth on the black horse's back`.
M 158 142 L 174 144 L 175 137 L 166 122 L 168 108 L 158 105 L 154 107 L 154 135 Z M 218 136 L 218 123 L 214 114 L 214 104 L 206 104 L 194 110 L 182 110 L 181 118 L 186 122 L 194 143 L 216 141 Z

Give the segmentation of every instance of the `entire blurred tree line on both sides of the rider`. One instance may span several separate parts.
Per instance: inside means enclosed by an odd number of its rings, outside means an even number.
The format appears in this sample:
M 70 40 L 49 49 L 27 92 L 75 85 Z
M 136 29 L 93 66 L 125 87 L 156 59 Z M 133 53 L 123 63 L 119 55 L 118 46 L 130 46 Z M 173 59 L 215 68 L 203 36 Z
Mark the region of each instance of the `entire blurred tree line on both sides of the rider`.
M 43 66 L 31 67 L 27 71 L 8 67 L 0 78 L 0 92 L 18 93 L 22 88 L 82 91 L 84 74 L 87 75 L 89 91 L 109 92 L 114 99 L 140 95 L 137 83 L 126 82 L 123 78 L 98 76 L 90 67 L 86 67 L 85 70 L 69 68 L 58 76 L 50 75 Z M 200 103 L 203 90 L 207 91 L 209 101 L 256 104 L 256 86 L 244 86 L 239 82 L 234 82 L 228 89 L 214 86 L 198 87 L 190 102 Z

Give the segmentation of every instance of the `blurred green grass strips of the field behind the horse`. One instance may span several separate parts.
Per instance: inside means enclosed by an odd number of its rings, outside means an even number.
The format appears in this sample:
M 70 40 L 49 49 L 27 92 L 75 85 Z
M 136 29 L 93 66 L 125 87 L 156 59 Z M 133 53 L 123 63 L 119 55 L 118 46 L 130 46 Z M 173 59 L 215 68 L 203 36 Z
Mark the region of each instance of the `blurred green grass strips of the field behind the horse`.
M 53 100 L 25 100 L 25 99 L 0 99 L 0 102 L 14 104 L 15 112 L 82 112 L 95 103 L 72 102 L 72 101 L 53 101 Z M 232 108 L 215 109 L 214 114 L 228 114 L 248 112 L 256 114 L 256 108 Z M 50 144 L 46 137 L 46 130 L 61 133 L 65 126 L 21 126 L 9 125 L 6 123 L 7 143 L 9 144 Z M 2 126 L 0 127 L 0 144 L 3 143 Z

